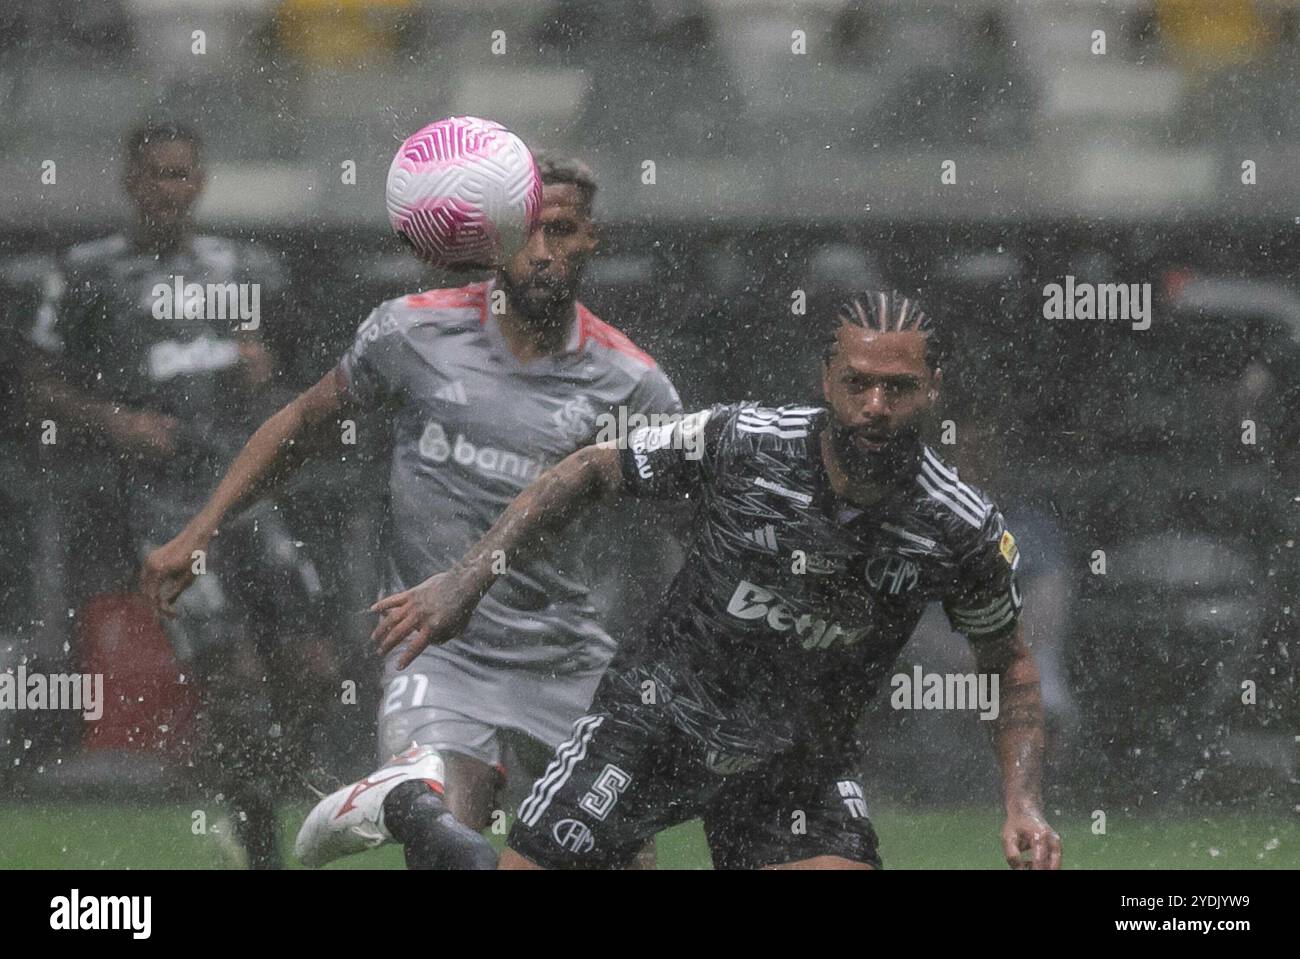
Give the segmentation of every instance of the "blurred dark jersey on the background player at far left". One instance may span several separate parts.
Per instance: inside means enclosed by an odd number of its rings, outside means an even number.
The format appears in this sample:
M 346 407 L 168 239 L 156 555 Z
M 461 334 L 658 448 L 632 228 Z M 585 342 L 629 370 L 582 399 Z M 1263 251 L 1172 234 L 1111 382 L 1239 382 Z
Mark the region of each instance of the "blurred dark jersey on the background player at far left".
M 72 247 L 55 279 L 29 339 L 98 398 L 177 417 L 178 455 L 142 469 L 151 485 L 205 494 L 250 430 L 255 396 L 237 376 L 238 340 L 282 322 L 278 260 L 204 235 L 159 256 L 114 234 Z

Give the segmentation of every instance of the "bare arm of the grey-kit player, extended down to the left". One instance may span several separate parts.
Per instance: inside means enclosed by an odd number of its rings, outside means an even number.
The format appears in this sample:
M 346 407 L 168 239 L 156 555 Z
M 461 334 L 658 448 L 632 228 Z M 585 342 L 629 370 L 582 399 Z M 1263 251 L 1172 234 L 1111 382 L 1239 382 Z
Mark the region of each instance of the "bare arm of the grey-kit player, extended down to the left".
M 208 548 L 222 520 L 289 480 L 320 446 L 320 437 L 346 403 L 337 372 L 330 370 L 257 428 L 203 509 L 146 557 L 139 587 L 160 615 L 176 616 L 173 603 L 194 582 L 194 554 Z

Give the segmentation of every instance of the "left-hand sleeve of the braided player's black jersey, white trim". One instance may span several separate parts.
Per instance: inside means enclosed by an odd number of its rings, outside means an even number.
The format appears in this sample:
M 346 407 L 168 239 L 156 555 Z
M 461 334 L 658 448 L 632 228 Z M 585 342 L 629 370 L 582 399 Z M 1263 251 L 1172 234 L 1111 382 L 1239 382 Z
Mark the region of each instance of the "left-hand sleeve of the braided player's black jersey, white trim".
M 714 474 L 729 407 L 712 407 L 628 435 L 619 463 L 623 487 L 633 496 L 686 499 Z

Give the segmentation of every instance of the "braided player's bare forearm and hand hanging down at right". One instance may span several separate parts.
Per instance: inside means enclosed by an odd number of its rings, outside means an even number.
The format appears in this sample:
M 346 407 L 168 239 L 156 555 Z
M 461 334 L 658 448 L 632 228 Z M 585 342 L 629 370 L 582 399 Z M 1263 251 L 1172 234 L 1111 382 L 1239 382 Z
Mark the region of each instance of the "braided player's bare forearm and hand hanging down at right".
M 982 673 L 998 677 L 993 747 L 1002 768 L 1002 851 L 1013 869 L 1060 869 L 1061 837 L 1043 816 L 1043 697 L 1020 622 L 1005 637 L 972 643 Z M 1020 854 L 1030 852 L 1022 860 Z

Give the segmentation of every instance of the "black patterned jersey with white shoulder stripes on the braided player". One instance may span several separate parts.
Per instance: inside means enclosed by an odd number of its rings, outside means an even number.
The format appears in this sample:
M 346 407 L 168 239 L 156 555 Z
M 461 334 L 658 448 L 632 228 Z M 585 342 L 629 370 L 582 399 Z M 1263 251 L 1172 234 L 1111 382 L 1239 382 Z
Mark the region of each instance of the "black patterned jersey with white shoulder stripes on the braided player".
M 621 452 L 630 494 L 699 505 L 684 567 L 615 665 L 723 763 L 852 741 L 927 603 L 972 641 L 1019 615 L 997 507 L 924 447 L 911 482 L 853 508 L 823 465 L 828 417 L 720 405 Z

